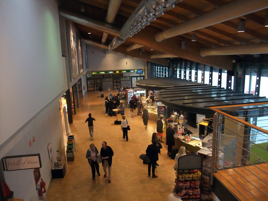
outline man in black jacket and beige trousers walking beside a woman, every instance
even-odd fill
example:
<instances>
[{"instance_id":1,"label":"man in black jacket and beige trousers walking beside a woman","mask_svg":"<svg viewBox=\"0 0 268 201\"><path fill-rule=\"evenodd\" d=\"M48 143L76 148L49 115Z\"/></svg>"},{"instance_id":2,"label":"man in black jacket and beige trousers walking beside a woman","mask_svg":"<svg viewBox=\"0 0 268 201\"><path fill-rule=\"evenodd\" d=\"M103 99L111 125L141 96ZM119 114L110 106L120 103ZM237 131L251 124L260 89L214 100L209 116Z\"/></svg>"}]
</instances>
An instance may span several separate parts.
<instances>
[{"instance_id":1,"label":"man in black jacket and beige trousers walking beside a woman","mask_svg":"<svg viewBox=\"0 0 268 201\"><path fill-rule=\"evenodd\" d=\"M103 178L107 175L107 168L108 168L108 182L111 183L111 171L112 171L112 157L114 152L111 147L107 146L107 142L102 142L101 148L101 159L102 159L102 166L104 171Z\"/></svg>"}]
</instances>

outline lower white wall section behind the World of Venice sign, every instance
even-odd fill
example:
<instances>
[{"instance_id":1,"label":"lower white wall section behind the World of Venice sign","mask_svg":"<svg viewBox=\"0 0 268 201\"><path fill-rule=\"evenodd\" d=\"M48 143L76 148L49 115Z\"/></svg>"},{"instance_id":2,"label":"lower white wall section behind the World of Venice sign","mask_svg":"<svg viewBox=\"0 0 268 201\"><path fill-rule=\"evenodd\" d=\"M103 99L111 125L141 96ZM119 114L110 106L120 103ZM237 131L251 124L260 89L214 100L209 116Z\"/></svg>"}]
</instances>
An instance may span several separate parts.
<instances>
[{"instance_id":1,"label":"lower white wall section behind the World of Venice sign","mask_svg":"<svg viewBox=\"0 0 268 201\"><path fill-rule=\"evenodd\" d=\"M7 156L40 153L42 162L40 173L46 182L46 188L49 187L51 180L51 163L47 146L49 143L52 144L53 159L57 156L56 151L61 151L64 147L59 107L59 100L55 99L40 111L19 130L17 136L20 137L17 137L16 143L12 144L13 147L6 153ZM32 137L35 137L35 142L31 141L32 145L29 147ZM31 197L38 197L33 169L5 171L4 176L10 190L14 191L15 198L29 200Z\"/></svg>"}]
</instances>

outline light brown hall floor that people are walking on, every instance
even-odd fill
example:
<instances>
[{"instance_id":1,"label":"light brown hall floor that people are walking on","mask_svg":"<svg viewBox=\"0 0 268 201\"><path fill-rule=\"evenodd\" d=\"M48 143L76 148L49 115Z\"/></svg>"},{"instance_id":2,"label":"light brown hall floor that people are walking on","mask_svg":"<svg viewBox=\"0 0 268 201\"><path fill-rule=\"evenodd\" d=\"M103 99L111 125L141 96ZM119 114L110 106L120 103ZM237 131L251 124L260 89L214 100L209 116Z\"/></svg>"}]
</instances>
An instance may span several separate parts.
<instances>
[{"instance_id":1,"label":"light brown hall floor that people are walking on","mask_svg":"<svg viewBox=\"0 0 268 201\"><path fill-rule=\"evenodd\" d=\"M70 125L70 135L75 135L75 161L66 165L67 173L64 178L51 180L46 200L166 200L173 191L175 178L175 161L167 156L167 145L162 143L159 166L155 171L158 178L148 177L147 165L139 159L139 155L145 154L148 144L151 144L156 122L149 120L145 129L141 116L135 115L131 118L130 111L126 108L125 116L131 127L131 131L128 132L129 140L126 142L122 138L120 125L114 124L116 117L105 114L104 98L97 98L95 92L86 92L80 104ZM90 140L87 123L84 123L88 113L97 120L94 121L93 141ZM121 120L120 115L118 120ZM197 132L193 129L191 131ZM103 178L101 163L101 176L96 176L96 179L92 180L91 168L85 158L91 143L100 150L103 141L114 151L110 184L107 177Z\"/></svg>"}]
</instances>

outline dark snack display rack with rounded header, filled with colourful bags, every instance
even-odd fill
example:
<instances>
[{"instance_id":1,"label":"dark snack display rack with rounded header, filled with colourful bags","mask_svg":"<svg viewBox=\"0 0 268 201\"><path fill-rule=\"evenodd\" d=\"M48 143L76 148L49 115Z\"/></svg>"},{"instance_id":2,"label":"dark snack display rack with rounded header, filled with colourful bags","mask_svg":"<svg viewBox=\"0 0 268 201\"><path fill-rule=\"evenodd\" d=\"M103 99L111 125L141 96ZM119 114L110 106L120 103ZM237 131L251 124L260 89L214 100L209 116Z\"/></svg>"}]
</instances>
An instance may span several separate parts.
<instances>
[{"instance_id":1,"label":"dark snack display rack with rounded header, filled with colourful bags","mask_svg":"<svg viewBox=\"0 0 268 201\"><path fill-rule=\"evenodd\" d=\"M178 158L178 167L175 179L175 188L183 186L185 194L182 200L199 201L202 185L203 158L199 155L184 155Z\"/></svg>"}]
</instances>

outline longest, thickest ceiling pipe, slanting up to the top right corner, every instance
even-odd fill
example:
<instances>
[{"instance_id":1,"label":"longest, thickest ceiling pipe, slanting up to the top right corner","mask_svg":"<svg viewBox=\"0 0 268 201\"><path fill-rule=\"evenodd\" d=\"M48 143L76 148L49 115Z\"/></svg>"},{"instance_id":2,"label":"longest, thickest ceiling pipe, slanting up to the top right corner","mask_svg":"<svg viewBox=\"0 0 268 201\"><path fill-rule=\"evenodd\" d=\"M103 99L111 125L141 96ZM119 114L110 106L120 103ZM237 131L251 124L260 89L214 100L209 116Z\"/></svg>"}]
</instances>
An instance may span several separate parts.
<instances>
[{"instance_id":1,"label":"longest, thickest ceiling pipe, slanting up to the top right corner","mask_svg":"<svg viewBox=\"0 0 268 201\"><path fill-rule=\"evenodd\" d=\"M161 42L167 38L172 38L174 36L208 27L213 24L218 24L265 8L268 8L267 0L232 1L224 6L221 6L220 8L211 10L210 12L205 13L199 17L177 25L176 27L172 27L166 31L157 33L155 35L155 40Z\"/></svg>"}]
</instances>

